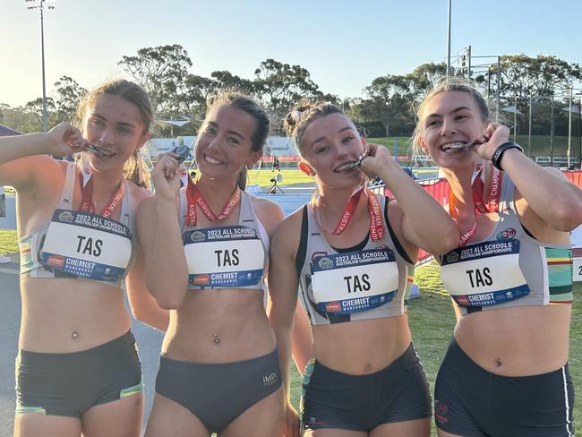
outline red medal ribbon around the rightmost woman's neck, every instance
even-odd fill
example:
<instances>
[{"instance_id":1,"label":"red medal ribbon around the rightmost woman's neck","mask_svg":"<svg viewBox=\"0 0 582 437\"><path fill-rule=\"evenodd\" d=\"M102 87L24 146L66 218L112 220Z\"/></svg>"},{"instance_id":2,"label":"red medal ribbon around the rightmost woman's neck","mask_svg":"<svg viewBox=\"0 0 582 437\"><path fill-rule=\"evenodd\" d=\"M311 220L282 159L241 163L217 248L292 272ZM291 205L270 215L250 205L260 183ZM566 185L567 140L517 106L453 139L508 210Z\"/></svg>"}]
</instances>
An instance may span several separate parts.
<instances>
[{"instance_id":1,"label":"red medal ribbon around the rightmost woman's neck","mask_svg":"<svg viewBox=\"0 0 582 437\"><path fill-rule=\"evenodd\" d=\"M475 206L475 223L468 231L466 231L464 234L461 234L461 242L458 244L459 247L466 245L469 240L475 236L475 232L477 231L477 218L479 217L479 214L487 214L490 212L497 212L499 210L501 179L503 177L501 170L492 167L492 174L489 180L489 200L487 201L486 205L483 199L484 183L483 179L481 178L482 172L483 168L479 168L477 170L475 179L471 184L471 194L473 197L473 205ZM449 193L449 214L451 218L457 221L458 209L455 203L457 203L457 198L451 190Z\"/></svg>"}]
</instances>

